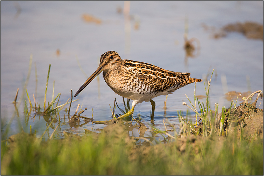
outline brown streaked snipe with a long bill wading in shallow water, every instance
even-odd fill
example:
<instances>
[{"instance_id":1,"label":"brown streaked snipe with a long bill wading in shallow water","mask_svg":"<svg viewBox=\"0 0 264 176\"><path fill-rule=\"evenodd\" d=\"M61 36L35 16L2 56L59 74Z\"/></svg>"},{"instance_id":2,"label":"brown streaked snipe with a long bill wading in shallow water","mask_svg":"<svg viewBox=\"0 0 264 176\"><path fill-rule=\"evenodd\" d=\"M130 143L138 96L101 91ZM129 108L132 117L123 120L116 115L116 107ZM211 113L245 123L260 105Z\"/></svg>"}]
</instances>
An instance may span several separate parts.
<instances>
[{"instance_id":1,"label":"brown streaked snipe with a long bill wading in shallow water","mask_svg":"<svg viewBox=\"0 0 264 176\"><path fill-rule=\"evenodd\" d=\"M154 97L172 94L187 84L200 82L201 79L190 78L191 73L181 73L139 61L123 60L115 51L101 55L98 69L85 81L74 95L75 97L101 72L106 84L118 95L133 100L132 108L119 119L134 112L136 104L151 102L151 119L154 120Z\"/></svg>"}]
</instances>

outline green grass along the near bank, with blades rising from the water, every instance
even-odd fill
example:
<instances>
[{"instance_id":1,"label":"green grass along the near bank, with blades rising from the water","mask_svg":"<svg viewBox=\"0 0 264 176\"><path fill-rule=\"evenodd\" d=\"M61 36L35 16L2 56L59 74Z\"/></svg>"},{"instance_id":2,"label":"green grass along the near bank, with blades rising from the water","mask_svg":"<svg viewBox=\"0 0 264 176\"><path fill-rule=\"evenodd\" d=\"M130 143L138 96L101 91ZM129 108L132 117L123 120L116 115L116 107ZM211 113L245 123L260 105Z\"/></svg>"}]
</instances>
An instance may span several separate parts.
<instances>
[{"instance_id":1,"label":"green grass along the near bank, with blades rising from the water","mask_svg":"<svg viewBox=\"0 0 264 176\"><path fill-rule=\"evenodd\" d=\"M59 106L60 93L55 98L52 96L47 108L44 100L43 115L50 115L51 120L41 138L36 138L36 132L32 134L30 129L30 134L22 131L1 141L1 175L263 175L263 138L239 140L235 133L224 133L223 120L226 113L230 115L233 102L229 110L222 108L220 127L216 125L218 105L215 104L213 113L208 101L211 78L207 88L205 85L205 105L196 99L195 87L194 105L189 100L196 115L194 124L184 119L181 112L178 112L181 129L178 134L175 131L174 136L168 134L164 121L165 131L148 124L164 137L165 144L156 141L157 144L153 145L149 140L145 145L137 146L138 139L129 136L123 123L106 126L99 134L65 135L64 139L52 139L57 125L49 139L42 140L60 110L74 102L68 102L68 99ZM28 101L32 108L29 96ZM126 113L130 109L129 100L125 103L123 99L123 103L125 110L115 100L119 110ZM39 109L39 106L33 107L35 111ZM115 109L114 106L113 117ZM25 118L28 119L30 113L25 101ZM198 125L202 125L202 132L197 131Z\"/></svg>"}]
</instances>

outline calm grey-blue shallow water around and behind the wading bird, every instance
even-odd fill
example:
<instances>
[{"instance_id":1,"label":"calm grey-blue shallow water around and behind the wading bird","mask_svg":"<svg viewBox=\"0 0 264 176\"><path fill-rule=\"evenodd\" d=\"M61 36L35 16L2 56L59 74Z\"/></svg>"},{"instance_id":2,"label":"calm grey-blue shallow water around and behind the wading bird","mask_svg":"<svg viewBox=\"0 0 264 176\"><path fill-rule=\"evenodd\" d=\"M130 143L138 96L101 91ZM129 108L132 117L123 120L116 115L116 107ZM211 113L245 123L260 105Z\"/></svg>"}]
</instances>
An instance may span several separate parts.
<instances>
[{"instance_id":1,"label":"calm grey-blue shallow water around and behind the wading bird","mask_svg":"<svg viewBox=\"0 0 264 176\"><path fill-rule=\"evenodd\" d=\"M17 88L18 99L22 95L30 54L33 54L33 64L27 91L31 101L34 93L41 107L49 64L47 101L52 99L55 81L54 94L61 93L60 104L63 104L70 98L70 90L75 94L87 79L78 62L89 77L97 69L101 54L109 50L118 52L122 59L191 72L191 77L203 80L214 69L209 94L212 106L218 102L219 107L229 107L231 102L224 98L228 91L263 90L263 40L248 39L239 33L214 39L212 31L204 28L207 25L217 30L229 23L246 21L263 24L263 1L131 1L131 20L128 21L123 12L118 12L123 8L123 1L1 1L1 130L6 128L14 112L12 101ZM85 21L84 14L92 15L101 23ZM200 44L199 54L196 54L196 48L194 57L186 57L183 47L186 22L188 39L197 38ZM56 53L57 50L60 52ZM194 84L187 85L167 97L165 117L165 96L154 98L156 127L164 130L163 119L168 119L166 123L175 124L176 131L180 130L175 116L178 110L186 112L187 107L182 106L182 102L190 105L185 94L193 101L193 88ZM196 95L205 95L204 82L197 83ZM99 82L94 79L74 98L79 100L72 104L70 114L74 114L79 103L82 109L88 108L82 115L92 117L93 113L95 120L109 120L109 104L113 107L114 98L122 104L122 97L106 85L100 74ZM32 131L37 130L41 135L47 127L46 122L43 116L36 115L34 119L31 115L26 125L25 100L26 95L18 107L23 129L29 131L29 125L32 125ZM260 100L257 106L259 103ZM68 105L66 107L68 109ZM263 108L263 100L260 108ZM143 102L136 105L133 115L140 114L145 124L150 123L150 109L150 102ZM82 134L84 129L97 131L104 127L92 123L70 127L68 118L63 118L64 114L65 111L60 112L65 123L60 123L55 137L63 136L63 131ZM49 135L55 126L48 131ZM9 135L15 134L17 127L15 118Z\"/></svg>"}]
</instances>

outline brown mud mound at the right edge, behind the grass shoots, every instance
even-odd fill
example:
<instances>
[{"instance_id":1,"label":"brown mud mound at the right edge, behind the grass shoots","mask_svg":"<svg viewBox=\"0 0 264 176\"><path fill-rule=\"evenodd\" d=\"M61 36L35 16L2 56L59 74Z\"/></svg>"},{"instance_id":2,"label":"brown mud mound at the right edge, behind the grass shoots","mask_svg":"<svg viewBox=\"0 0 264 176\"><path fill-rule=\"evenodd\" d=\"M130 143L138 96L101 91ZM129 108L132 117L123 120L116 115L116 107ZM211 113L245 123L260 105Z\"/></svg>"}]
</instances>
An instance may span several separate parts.
<instances>
[{"instance_id":1,"label":"brown mud mound at the right edge, behind the grass shoots","mask_svg":"<svg viewBox=\"0 0 264 176\"><path fill-rule=\"evenodd\" d=\"M223 112L219 113L215 119L215 129L219 129L224 136L235 134L248 140L263 139L263 109L256 107L259 96L262 97L261 92L253 103L248 103L249 98L255 93L249 95L239 106L225 108L224 115ZM202 129L203 122L198 124L195 131L202 135Z\"/></svg>"}]
</instances>

